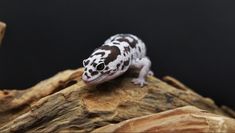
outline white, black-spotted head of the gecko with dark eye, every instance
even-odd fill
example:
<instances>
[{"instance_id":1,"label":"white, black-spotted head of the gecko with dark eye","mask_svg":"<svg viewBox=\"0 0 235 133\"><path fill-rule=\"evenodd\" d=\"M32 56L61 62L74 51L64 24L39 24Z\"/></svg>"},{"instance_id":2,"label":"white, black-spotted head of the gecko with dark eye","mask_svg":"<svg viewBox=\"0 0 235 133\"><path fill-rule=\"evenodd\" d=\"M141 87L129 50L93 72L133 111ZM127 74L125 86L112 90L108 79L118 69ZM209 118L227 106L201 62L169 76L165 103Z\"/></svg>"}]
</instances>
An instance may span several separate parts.
<instances>
[{"instance_id":1,"label":"white, black-spotted head of the gecko with dark eye","mask_svg":"<svg viewBox=\"0 0 235 133\"><path fill-rule=\"evenodd\" d=\"M110 79L110 67L103 58L88 58L83 60L84 72L82 80L88 85L100 84Z\"/></svg>"}]
</instances>

